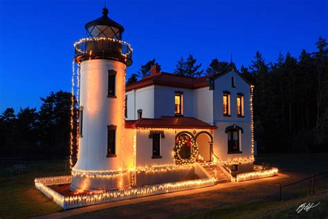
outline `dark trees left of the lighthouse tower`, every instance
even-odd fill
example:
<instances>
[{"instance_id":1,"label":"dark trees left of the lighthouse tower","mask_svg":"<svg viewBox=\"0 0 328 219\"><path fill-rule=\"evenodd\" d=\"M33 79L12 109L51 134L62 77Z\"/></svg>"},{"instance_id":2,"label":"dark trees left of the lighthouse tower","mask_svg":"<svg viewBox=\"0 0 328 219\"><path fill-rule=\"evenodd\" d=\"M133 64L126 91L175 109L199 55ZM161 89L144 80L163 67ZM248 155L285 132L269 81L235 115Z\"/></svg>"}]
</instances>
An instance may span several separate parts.
<instances>
[{"instance_id":1,"label":"dark trees left of the lighthouse tower","mask_svg":"<svg viewBox=\"0 0 328 219\"><path fill-rule=\"evenodd\" d=\"M66 91L51 92L37 109L26 107L17 114L7 108L0 116L0 157L53 159L69 156L71 97ZM76 101L75 101L76 105ZM73 115L78 109L73 107ZM73 148L76 148L77 120L73 120ZM75 151L75 150L73 150Z\"/></svg>"}]
</instances>

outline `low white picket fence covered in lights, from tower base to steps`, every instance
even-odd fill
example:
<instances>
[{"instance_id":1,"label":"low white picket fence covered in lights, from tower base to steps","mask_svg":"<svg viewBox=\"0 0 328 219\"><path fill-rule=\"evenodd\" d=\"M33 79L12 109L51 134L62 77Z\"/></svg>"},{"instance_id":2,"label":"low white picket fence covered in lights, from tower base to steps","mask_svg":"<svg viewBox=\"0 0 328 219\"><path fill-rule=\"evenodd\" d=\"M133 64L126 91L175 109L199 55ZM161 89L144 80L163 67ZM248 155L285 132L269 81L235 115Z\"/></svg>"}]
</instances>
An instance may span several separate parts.
<instances>
[{"instance_id":1,"label":"low white picket fence covered in lights, from tower base to steps","mask_svg":"<svg viewBox=\"0 0 328 219\"><path fill-rule=\"evenodd\" d=\"M159 195L163 193L172 193L175 191L184 191L188 189L197 189L206 186L214 186L215 179L194 179L181 182L170 182L165 184L154 184L140 186L131 189L120 189L115 191L104 191L102 193L90 193L72 195L64 197L60 193L53 191L49 185L69 184L72 176L46 177L35 179L35 187L42 191L48 198L59 204L64 209L73 209L76 207L84 207L92 204L101 204L105 202L116 202L120 200L128 200L132 198L141 198L149 195Z\"/></svg>"}]
</instances>

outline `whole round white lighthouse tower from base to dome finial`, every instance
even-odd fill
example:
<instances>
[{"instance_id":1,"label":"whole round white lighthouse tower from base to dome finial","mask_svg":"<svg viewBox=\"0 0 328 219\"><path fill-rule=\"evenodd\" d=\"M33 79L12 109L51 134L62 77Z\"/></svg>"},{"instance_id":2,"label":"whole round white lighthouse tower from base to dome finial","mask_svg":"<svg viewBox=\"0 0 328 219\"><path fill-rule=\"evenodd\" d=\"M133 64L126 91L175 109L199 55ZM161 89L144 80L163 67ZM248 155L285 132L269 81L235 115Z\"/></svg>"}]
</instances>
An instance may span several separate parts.
<instances>
[{"instance_id":1,"label":"whole round white lighthouse tower from base to dome finial","mask_svg":"<svg viewBox=\"0 0 328 219\"><path fill-rule=\"evenodd\" d=\"M108 17L85 25L87 38L75 43L80 64L80 140L71 189L107 190L130 185L124 157L125 69L131 46L124 28Z\"/></svg>"}]
</instances>

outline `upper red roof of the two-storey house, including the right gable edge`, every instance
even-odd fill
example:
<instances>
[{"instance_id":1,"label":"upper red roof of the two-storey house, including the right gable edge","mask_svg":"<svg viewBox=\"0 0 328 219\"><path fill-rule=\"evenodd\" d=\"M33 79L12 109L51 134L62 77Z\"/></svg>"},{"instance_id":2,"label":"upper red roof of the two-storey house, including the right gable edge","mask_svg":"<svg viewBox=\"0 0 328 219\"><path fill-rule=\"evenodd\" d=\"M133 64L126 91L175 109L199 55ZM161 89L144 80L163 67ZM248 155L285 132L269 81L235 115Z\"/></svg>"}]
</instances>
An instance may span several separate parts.
<instances>
[{"instance_id":1,"label":"upper red roof of the two-storey house, including the right gable edge","mask_svg":"<svg viewBox=\"0 0 328 219\"><path fill-rule=\"evenodd\" d=\"M179 76L173 73L159 72L152 76L147 76L142 80L127 85L126 91L131 91L133 89L140 89L152 85L179 87L185 89L199 89L202 87L208 87L209 80L215 80L217 78L220 78L221 76L224 76L231 71L235 71L235 73L237 73L248 85L251 85L250 82L248 82L248 80L246 80L246 78L244 78L242 73L239 73L237 69L229 68L221 73L214 73L212 75L203 76L200 78L192 78L188 76Z\"/></svg>"}]
</instances>

